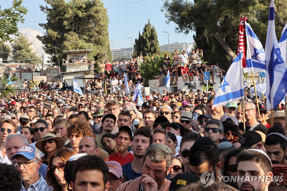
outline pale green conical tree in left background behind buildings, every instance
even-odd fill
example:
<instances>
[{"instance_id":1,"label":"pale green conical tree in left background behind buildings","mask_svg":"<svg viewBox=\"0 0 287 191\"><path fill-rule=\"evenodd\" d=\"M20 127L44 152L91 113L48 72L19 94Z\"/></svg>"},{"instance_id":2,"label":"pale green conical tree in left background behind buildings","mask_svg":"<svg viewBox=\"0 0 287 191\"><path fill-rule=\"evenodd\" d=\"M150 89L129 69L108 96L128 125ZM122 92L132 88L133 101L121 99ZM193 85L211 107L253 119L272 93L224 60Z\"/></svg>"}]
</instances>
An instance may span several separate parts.
<instances>
[{"instance_id":1,"label":"pale green conical tree in left background behind buildings","mask_svg":"<svg viewBox=\"0 0 287 191\"><path fill-rule=\"evenodd\" d=\"M20 33L19 36L16 36L11 44L13 61L18 63L38 64L38 56L36 56L34 52L31 52L32 48L30 48L30 45L32 44L32 42L29 42L26 34Z\"/></svg>"}]
</instances>

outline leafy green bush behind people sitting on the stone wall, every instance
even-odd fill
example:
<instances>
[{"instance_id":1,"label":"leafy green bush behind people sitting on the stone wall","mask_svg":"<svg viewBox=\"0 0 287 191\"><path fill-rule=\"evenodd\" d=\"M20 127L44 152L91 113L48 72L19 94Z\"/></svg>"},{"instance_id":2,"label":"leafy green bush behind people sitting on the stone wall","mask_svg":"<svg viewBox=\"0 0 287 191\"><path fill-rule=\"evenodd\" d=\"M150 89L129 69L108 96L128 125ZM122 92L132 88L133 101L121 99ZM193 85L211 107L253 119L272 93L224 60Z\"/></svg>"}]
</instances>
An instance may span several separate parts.
<instances>
[{"instance_id":1,"label":"leafy green bush behind people sitting on the stone wall","mask_svg":"<svg viewBox=\"0 0 287 191\"><path fill-rule=\"evenodd\" d=\"M141 66L139 67L139 71L141 72L141 76L145 78L145 83L144 86L148 86L148 80L153 80L154 76L158 76L158 68L161 67L163 69L163 65L166 65L164 63L164 58L165 54L168 52L160 52L160 55L157 56L154 54L154 59L152 59L151 56L146 56L147 62L141 63ZM174 53L170 52L169 53L170 60L172 60L172 57L174 56ZM173 65L173 62L170 62L170 65Z\"/></svg>"}]
</instances>

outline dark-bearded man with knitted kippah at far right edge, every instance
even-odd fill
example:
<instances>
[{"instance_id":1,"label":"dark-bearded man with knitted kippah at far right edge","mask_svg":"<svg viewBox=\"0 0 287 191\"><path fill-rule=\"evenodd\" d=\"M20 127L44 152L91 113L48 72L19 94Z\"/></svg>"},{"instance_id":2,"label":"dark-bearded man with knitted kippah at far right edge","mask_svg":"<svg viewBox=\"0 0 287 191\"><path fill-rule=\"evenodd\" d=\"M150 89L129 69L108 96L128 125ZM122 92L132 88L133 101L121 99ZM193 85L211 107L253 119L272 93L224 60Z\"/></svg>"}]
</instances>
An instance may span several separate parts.
<instances>
[{"instance_id":1,"label":"dark-bearded man with knitted kippah at far right edge","mask_svg":"<svg viewBox=\"0 0 287 191\"><path fill-rule=\"evenodd\" d=\"M266 153L272 164L287 166L287 138L281 133L270 133L265 140Z\"/></svg>"}]
</instances>

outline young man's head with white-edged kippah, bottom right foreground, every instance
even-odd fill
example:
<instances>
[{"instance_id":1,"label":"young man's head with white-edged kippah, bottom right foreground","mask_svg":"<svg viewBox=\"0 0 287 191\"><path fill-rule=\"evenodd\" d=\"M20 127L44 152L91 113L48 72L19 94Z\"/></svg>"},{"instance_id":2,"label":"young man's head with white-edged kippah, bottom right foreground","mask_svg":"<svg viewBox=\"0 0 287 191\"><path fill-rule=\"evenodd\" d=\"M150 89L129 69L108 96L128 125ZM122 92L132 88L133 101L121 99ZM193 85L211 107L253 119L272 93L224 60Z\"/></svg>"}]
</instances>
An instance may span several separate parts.
<instances>
[{"instance_id":1,"label":"young man's head with white-edged kippah, bottom right foreground","mask_svg":"<svg viewBox=\"0 0 287 191\"><path fill-rule=\"evenodd\" d=\"M273 178L272 163L264 151L258 149L241 151L236 157L236 167L237 176L242 180L238 181L241 191L268 191L268 185ZM257 177L257 180L251 181L254 176ZM259 181L259 177L263 181ZM245 179L250 181L244 181Z\"/></svg>"}]
</instances>

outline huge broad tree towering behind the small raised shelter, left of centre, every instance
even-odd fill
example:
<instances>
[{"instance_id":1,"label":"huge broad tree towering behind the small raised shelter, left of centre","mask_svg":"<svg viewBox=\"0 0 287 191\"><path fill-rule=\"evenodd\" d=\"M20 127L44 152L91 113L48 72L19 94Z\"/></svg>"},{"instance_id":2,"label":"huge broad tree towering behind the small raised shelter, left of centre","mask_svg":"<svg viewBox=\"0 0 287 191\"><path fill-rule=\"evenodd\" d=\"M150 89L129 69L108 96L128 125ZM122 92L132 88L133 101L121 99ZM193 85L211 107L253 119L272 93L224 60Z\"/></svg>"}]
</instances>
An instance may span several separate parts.
<instances>
[{"instance_id":1,"label":"huge broad tree towering behind the small raised shelter, left of centre","mask_svg":"<svg viewBox=\"0 0 287 191\"><path fill-rule=\"evenodd\" d=\"M93 49L88 58L112 60L108 40L108 15L100 0L45 0L49 6L40 5L47 15L47 23L39 25L46 30L37 38L44 44L44 49L54 46L62 50ZM46 50L53 54L55 50ZM59 60L66 59L62 53ZM53 58L58 63L58 58ZM61 63L59 63L61 65Z\"/></svg>"}]
</instances>

